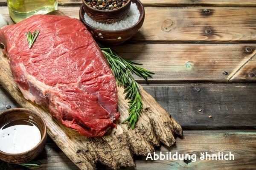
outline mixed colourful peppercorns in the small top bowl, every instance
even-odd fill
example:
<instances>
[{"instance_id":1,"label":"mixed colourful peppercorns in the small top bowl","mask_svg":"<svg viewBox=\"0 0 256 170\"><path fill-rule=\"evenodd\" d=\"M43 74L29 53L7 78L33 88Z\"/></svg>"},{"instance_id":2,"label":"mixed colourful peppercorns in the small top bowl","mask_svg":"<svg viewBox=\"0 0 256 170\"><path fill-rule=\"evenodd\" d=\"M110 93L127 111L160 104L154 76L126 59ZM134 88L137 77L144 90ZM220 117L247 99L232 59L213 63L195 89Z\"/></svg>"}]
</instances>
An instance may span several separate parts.
<instances>
[{"instance_id":1,"label":"mixed colourful peppercorns in the small top bowl","mask_svg":"<svg viewBox=\"0 0 256 170\"><path fill-rule=\"evenodd\" d=\"M128 0L85 0L92 8L99 10L115 10L125 6Z\"/></svg>"}]
</instances>

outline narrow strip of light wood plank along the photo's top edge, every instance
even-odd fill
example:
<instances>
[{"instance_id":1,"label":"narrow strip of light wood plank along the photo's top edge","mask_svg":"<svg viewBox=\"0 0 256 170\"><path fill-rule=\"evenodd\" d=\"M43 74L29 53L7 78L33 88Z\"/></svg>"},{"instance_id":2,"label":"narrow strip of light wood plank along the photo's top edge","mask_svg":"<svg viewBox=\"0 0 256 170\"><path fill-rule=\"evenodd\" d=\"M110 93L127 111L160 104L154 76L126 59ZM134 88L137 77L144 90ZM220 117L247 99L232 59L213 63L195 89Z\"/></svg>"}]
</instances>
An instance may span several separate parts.
<instances>
[{"instance_id":1,"label":"narrow strip of light wood plank along the photo's top edge","mask_svg":"<svg viewBox=\"0 0 256 170\"><path fill-rule=\"evenodd\" d=\"M253 7L255 0L140 0L144 6L225 6ZM58 6L81 6L82 0L58 0ZM6 0L0 0L0 6L6 6Z\"/></svg>"}]
</instances>

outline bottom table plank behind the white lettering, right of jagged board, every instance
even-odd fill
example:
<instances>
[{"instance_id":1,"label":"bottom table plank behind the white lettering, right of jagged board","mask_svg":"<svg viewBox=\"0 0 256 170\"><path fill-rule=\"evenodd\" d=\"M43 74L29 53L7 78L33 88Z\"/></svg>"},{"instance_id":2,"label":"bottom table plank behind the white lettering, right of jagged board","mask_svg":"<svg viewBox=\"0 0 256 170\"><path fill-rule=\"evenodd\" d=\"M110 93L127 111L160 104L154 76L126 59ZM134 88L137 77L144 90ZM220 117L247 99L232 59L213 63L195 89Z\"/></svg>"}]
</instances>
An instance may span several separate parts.
<instances>
[{"instance_id":1,"label":"bottom table plank behind the white lettering, right of jagged board","mask_svg":"<svg viewBox=\"0 0 256 170\"><path fill-rule=\"evenodd\" d=\"M161 147L159 152L178 154L233 153L235 160L197 160L186 164L183 160L146 161L137 158L136 170L253 170L256 167L256 132L255 131L184 131L183 139L177 139L175 147ZM154 163L154 166L151 166ZM100 168L99 168L100 169ZM105 169L104 167L102 170ZM130 169L130 168L128 168ZM131 168L132 170L132 168Z\"/></svg>"}]
</instances>

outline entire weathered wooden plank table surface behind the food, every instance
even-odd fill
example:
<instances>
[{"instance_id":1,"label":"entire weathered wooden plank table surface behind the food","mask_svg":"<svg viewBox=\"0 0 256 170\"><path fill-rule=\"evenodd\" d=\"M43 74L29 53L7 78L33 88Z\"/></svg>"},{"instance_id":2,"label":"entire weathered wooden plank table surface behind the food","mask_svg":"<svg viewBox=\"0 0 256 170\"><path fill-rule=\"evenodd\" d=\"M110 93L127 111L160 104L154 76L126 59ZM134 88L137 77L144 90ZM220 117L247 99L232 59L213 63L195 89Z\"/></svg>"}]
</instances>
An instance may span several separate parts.
<instances>
[{"instance_id":1,"label":"entire weathered wooden plank table surface behind the food","mask_svg":"<svg viewBox=\"0 0 256 170\"><path fill-rule=\"evenodd\" d=\"M230 151L235 160L185 163L135 156L137 167L124 169L255 170L256 0L141 1L142 29L113 48L156 73L147 84L136 79L183 127L183 137L173 147L156 151ZM58 9L79 18L80 5L81 0L59 0ZM12 23L6 0L0 0L0 13ZM0 87L0 111L10 107L19 105ZM41 170L78 170L49 138L38 159ZM24 168L0 161L0 170Z\"/></svg>"}]
</instances>

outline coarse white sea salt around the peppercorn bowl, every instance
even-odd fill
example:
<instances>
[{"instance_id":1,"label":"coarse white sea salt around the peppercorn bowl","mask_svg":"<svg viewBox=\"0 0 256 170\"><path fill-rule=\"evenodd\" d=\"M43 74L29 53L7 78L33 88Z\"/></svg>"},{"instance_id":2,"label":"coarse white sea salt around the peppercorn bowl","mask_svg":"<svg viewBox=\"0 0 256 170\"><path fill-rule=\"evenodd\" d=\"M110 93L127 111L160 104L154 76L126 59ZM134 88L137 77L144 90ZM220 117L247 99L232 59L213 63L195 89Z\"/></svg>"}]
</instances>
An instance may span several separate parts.
<instances>
[{"instance_id":1,"label":"coarse white sea salt around the peppercorn bowl","mask_svg":"<svg viewBox=\"0 0 256 170\"><path fill-rule=\"evenodd\" d=\"M139 21L139 18L140 18L140 11L138 10L136 3L131 3L131 8L129 9L127 16L116 23L110 23L110 24L99 23L93 20L91 17L89 17L87 13L84 13L84 20L90 26L93 26L95 28L99 28L102 30L108 30L108 31L116 31L116 30L129 28L134 24L136 24Z\"/></svg>"}]
</instances>

